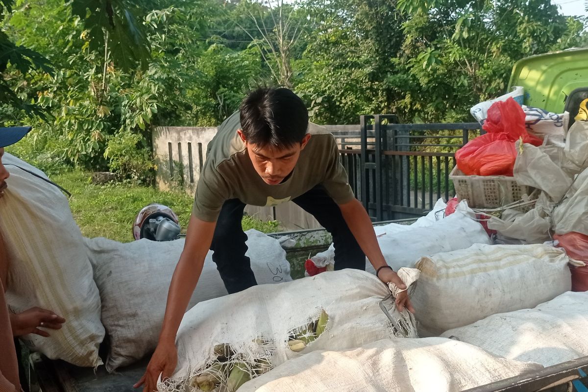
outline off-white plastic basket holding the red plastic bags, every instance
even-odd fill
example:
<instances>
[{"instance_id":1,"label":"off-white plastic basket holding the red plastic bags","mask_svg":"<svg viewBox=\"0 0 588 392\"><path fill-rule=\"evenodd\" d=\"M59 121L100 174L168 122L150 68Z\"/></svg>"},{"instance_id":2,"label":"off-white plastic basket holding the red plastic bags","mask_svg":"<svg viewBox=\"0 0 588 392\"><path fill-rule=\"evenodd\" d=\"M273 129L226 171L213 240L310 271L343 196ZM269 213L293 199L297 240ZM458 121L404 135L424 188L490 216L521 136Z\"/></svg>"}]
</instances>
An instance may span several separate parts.
<instances>
[{"instance_id":1,"label":"off-white plastic basket holding the red plastic bags","mask_svg":"<svg viewBox=\"0 0 588 392\"><path fill-rule=\"evenodd\" d=\"M467 200L473 208L499 208L530 195L534 188L519 185L514 177L507 176L466 176L457 169L451 171L449 178L455 186L457 199Z\"/></svg>"}]
</instances>

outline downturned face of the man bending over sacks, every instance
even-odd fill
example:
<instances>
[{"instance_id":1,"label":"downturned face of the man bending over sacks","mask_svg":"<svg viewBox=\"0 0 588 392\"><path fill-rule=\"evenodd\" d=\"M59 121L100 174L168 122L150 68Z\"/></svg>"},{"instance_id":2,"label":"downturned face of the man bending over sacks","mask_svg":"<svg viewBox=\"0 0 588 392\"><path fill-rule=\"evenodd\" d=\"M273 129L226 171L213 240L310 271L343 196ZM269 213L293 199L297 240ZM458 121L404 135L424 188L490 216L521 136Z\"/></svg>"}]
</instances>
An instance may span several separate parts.
<instances>
[{"instance_id":1,"label":"downturned face of the man bending over sacks","mask_svg":"<svg viewBox=\"0 0 588 392\"><path fill-rule=\"evenodd\" d=\"M307 134L300 144L288 149L276 149L272 147L258 148L257 145L247 142L245 135L243 135L240 129L237 133L239 133L241 140L245 142L249 159L251 159L255 171L269 185L278 185L292 173L300 157L300 151L305 148L306 143L310 139L310 135Z\"/></svg>"}]
</instances>

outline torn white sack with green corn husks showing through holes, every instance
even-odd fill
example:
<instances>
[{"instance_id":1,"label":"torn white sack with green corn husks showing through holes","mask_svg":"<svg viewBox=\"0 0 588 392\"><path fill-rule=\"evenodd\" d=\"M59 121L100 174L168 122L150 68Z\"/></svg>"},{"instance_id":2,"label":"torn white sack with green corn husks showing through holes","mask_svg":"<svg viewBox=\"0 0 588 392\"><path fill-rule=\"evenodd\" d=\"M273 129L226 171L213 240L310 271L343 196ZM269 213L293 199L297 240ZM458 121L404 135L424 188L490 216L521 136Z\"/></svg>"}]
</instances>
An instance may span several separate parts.
<instances>
[{"instance_id":1,"label":"torn white sack with green corn husks showing through holes","mask_svg":"<svg viewBox=\"0 0 588 392\"><path fill-rule=\"evenodd\" d=\"M417 275L407 275L399 271L410 285ZM395 337L389 312L382 310L393 309L392 302L390 289L377 277L346 269L198 303L178 331L176 372L159 383L159 391L234 392L311 351Z\"/></svg>"}]
</instances>

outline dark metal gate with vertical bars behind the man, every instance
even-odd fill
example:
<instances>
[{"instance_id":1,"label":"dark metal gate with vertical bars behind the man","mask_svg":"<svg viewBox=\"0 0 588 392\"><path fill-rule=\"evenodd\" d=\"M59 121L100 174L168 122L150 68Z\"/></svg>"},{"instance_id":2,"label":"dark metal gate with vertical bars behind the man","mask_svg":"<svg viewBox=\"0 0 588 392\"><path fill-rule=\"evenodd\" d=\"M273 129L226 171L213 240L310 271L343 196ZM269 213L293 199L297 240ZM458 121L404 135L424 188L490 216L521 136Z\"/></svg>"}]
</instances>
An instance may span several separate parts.
<instances>
[{"instance_id":1,"label":"dark metal gate with vertical bars behind the man","mask_svg":"<svg viewBox=\"0 0 588 392\"><path fill-rule=\"evenodd\" d=\"M395 115L365 115L359 135L331 132L349 184L379 222L425 215L437 199L453 196L455 152L482 131L479 123L399 124Z\"/></svg>"}]
</instances>

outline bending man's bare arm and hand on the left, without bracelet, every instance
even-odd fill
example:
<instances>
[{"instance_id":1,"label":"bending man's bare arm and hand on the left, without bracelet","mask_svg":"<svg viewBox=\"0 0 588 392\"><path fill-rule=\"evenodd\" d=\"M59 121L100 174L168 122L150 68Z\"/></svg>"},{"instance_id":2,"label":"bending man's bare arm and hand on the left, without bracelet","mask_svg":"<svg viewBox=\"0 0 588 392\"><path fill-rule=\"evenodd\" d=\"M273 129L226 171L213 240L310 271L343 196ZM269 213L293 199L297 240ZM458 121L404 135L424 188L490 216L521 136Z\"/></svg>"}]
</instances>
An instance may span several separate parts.
<instances>
[{"instance_id":1,"label":"bending man's bare arm and hand on the left, without bracelet","mask_svg":"<svg viewBox=\"0 0 588 392\"><path fill-rule=\"evenodd\" d=\"M175 370L178 363L178 351L175 347L176 334L202 273L215 226L216 222L205 222L194 215L190 218L184 249L169 286L168 302L157 349L149 361L145 374L135 384L135 388L143 385L144 392L157 390L159 374L163 380L171 377Z\"/></svg>"}]
</instances>

